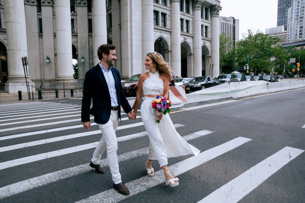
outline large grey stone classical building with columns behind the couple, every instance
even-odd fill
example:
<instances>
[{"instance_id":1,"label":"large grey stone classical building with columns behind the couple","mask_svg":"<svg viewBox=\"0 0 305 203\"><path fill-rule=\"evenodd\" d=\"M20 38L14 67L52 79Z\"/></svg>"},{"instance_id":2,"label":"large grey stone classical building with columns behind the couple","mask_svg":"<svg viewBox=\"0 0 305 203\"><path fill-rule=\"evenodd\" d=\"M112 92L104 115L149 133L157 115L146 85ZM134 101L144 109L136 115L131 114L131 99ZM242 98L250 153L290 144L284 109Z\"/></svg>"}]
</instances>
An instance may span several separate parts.
<instances>
[{"instance_id":1,"label":"large grey stone classical building with columns behind the couple","mask_svg":"<svg viewBox=\"0 0 305 203\"><path fill-rule=\"evenodd\" d=\"M122 79L145 72L145 55L162 53L175 76L219 75L219 0L0 0L0 76L5 92L30 84L75 83L116 46Z\"/></svg>"}]
</instances>

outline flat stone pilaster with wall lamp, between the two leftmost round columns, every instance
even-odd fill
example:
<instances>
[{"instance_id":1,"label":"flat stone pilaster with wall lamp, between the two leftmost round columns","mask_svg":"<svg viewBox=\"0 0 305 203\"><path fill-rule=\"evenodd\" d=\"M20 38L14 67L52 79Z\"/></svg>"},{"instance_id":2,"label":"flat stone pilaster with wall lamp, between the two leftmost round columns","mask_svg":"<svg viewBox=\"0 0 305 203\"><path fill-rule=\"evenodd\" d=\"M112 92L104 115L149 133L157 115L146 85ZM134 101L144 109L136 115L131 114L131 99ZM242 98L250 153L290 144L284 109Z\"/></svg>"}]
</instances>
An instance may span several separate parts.
<instances>
[{"instance_id":1,"label":"flat stone pilaster with wall lamp, between the two leftmost round columns","mask_svg":"<svg viewBox=\"0 0 305 203\"><path fill-rule=\"evenodd\" d=\"M42 18L42 36L43 36L42 66L44 68L43 84L49 85L49 84L54 84L56 78L52 0L41 1L41 18ZM45 62L47 56L50 58L50 63Z\"/></svg>"}]
</instances>

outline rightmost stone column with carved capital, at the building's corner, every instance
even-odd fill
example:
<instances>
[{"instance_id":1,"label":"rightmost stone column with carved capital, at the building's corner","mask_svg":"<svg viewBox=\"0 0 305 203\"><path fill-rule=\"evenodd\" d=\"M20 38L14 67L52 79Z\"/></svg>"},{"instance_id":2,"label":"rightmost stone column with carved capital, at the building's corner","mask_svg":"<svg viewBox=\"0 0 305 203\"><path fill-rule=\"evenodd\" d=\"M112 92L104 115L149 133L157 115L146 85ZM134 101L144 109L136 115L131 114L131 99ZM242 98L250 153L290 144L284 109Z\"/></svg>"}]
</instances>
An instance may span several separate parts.
<instances>
[{"instance_id":1,"label":"rightmost stone column with carved capital, at the building's corner","mask_svg":"<svg viewBox=\"0 0 305 203\"><path fill-rule=\"evenodd\" d=\"M210 6L211 11L211 63L213 64L213 77L219 75L219 11L221 6Z\"/></svg>"}]
</instances>

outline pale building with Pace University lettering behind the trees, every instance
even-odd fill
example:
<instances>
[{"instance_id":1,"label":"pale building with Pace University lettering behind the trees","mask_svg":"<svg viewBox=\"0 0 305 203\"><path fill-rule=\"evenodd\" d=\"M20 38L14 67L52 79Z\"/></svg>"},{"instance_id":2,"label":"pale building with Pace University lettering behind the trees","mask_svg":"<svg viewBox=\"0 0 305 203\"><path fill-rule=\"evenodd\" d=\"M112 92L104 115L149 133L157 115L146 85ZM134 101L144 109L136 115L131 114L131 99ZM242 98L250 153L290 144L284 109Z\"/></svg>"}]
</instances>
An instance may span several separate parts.
<instances>
[{"instance_id":1,"label":"pale building with Pace University lettering behind the trees","mask_svg":"<svg viewBox=\"0 0 305 203\"><path fill-rule=\"evenodd\" d=\"M239 19L232 16L219 16L219 32L231 37L232 43L227 44L226 47L226 50L230 51L231 47L235 46L235 42L239 40Z\"/></svg>"}]
</instances>

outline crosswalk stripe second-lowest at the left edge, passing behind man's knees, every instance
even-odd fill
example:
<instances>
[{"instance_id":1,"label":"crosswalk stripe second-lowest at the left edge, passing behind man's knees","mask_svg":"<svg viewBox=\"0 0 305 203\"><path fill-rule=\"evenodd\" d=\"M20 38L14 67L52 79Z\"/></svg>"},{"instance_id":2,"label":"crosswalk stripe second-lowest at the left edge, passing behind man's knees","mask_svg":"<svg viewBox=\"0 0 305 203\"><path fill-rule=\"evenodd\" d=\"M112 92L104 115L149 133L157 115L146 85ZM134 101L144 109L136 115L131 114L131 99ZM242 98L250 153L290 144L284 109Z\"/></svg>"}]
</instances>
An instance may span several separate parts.
<instances>
[{"instance_id":1,"label":"crosswalk stripe second-lowest at the left edge, passing behind man's knees","mask_svg":"<svg viewBox=\"0 0 305 203\"><path fill-rule=\"evenodd\" d=\"M175 124L175 125L177 125L177 124ZM178 125L180 125L180 124L178 124ZM122 141L125 141L125 140L130 140L130 139L142 137L142 136L145 136L145 135L147 135L147 134L145 134L143 132L136 133L136 134L133 134L133 135L126 135L126 136L118 137L117 142L122 142ZM34 162L34 161L48 159L48 158L51 158L51 157L61 156L61 155L65 155L65 154L70 154L70 153L74 153L74 152L83 151L83 150L86 150L86 149L95 148L98 143L99 142L92 142L92 143L85 144L85 145L78 145L78 146L69 147L69 148L66 148L66 149L59 149L59 150L52 151L52 152L46 152L46 153L36 154L36 155L33 155L33 156L23 157L23 158L20 158L20 159L14 159L14 160L10 160L10 161L1 162L0 163L0 170L5 169L5 168L9 168L9 167L13 167L13 166L19 166L19 165L25 164L25 163L31 163L31 162Z\"/></svg>"}]
</instances>

